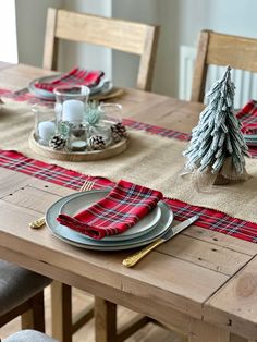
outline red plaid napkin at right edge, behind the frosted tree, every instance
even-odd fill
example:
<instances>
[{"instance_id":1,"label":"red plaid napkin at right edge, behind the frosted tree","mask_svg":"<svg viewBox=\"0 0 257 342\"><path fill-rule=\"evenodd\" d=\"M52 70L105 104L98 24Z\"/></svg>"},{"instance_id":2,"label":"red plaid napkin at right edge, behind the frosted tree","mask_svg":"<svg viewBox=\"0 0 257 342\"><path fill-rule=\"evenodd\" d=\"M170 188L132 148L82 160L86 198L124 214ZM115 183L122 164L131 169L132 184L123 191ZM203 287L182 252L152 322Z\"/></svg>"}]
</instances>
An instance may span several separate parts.
<instances>
[{"instance_id":1,"label":"red plaid napkin at right edge, behind the frosted tree","mask_svg":"<svg viewBox=\"0 0 257 342\"><path fill-rule=\"evenodd\" d=\"M236 114L242 123L243 134L257 134L257 101L250 100Z\"/></svg>"}]
</instances>

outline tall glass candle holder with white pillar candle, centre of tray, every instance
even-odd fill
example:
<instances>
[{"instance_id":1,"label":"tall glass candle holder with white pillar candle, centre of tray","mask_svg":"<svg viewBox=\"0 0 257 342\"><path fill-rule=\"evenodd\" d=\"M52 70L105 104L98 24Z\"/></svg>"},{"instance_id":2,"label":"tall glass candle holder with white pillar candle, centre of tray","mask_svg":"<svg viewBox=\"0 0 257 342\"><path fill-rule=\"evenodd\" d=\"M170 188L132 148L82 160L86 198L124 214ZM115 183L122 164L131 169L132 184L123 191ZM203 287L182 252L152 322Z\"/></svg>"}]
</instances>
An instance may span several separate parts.
<instances>
[{"instance_id":1,"label":"tall glass candle holder with white pillar candle, centre of tray","mask_svg":"<svg viewBox=\"0 0 257 342\"><path fill-rule=\"evenodd\" d=\"M58 132L66 138L69 149L82 148L87 139L85 117L90 89L83 85L70 85L57 87L53 93Z\"/></svg>"}]
</instances>

